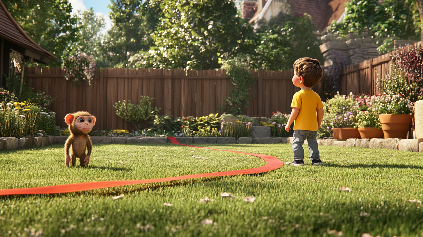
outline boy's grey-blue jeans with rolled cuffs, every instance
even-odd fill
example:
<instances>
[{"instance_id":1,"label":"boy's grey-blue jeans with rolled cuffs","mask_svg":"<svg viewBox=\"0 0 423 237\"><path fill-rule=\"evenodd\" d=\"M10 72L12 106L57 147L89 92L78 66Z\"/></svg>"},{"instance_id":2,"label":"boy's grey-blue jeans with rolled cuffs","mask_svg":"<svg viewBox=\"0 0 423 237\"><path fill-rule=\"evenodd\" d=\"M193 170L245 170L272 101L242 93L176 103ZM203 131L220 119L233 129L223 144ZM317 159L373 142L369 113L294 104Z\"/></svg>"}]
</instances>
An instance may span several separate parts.
<instances>
[{"instance_id":1,"label":"boy's grey-blue jeans with rolled cuffs","mask_svg":"<svg viewBox=\"0 0 423 237\"><path fill-rule=\"evenodd\" d=\"M317 131L308 130L294 130L294 137L292 138L292 152L294 152L294 160L304 160L304 149L302 144L307 139L308 152L310 160L320 159L319 145L316 141Z\"/></svg>"}]
</instances>

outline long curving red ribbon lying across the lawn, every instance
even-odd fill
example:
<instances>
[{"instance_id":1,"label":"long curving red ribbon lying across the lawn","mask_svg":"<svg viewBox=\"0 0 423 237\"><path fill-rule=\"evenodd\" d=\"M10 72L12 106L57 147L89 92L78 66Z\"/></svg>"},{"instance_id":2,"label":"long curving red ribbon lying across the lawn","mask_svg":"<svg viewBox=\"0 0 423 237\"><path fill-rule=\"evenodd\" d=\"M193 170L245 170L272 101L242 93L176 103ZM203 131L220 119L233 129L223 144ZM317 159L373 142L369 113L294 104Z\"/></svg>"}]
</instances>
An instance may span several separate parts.
<instances>
[{"instance_id":1,"label":"long curving red ribbon lying across the lawn","mask_svg":"<svg viewBox=\"0 0 423 237\"><path fill-rule=\"evenodd\" d=\"M191 146L191 145L180 144L174 137L168 137L168 138L173 144L177 144L181 146ZM235 152L235 151L219 150L219 149L212 149L212 148L199 147L199 146L191 146L191 147L210 149L214 151ZM260 157L261 159L266 161L267 164L264 166L261 166L258 168L252 168L252 169L244 169L244 170L236 170L236 171L222 171L222 172L206 173L206 174L190 174L190 175L175 176L175 177L160 178L160 179L98 181L98 182L85 182L85 183L66 184L66 185L53 185L53 186L45 186L45 187L2 189L0 190L0 196L18 195L18 194L71 193L71 192L79 192L79 191L93 190L93 189L99 189L99 188L118 187L123 185L147 184L147 183L155 183L155 182L166 182L166 181L175 181L175 180L181 180L181 179L231 176L231 175L239 175L239 174L258 174L258 173L275 170L277 168L280 168L283 165L283 162L274 156L245 153L245 152L235 152L235 153Z\"/></svg>"}]
</instances>

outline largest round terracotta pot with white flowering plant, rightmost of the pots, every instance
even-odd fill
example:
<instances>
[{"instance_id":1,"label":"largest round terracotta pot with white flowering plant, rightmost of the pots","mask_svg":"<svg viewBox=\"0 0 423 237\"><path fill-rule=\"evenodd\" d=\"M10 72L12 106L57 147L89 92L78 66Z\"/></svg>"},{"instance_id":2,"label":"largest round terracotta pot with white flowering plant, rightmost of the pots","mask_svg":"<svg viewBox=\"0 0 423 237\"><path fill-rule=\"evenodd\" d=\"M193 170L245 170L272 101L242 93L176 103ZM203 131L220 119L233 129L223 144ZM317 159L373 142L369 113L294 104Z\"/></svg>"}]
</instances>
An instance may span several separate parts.
<instances>
[{"instance_id":1,"label":"largest round terracotta pot with white flowering plant, rightmost of the pots","mask_svg":"<svg viewBox=\"0 0 423 237\"><path fill-rule=\"evenodd\" d=\"M379 113L384 138L407 138L412 120L412 103L403 94L371 96L370 106Z\"/></svg>"}]
</instances>

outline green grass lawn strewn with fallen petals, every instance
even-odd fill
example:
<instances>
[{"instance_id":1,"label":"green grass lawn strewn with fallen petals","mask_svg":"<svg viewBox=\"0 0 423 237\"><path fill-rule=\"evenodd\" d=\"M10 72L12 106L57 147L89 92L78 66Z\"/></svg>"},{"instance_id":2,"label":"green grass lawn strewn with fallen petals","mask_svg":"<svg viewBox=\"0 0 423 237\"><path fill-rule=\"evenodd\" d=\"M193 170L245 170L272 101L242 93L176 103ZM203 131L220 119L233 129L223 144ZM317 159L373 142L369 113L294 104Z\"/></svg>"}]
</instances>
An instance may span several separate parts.
<instances>
[{"instance_id":1,"label":"green grass lawn strewn with fallen petals","mask_svg":"<svg viewBox=\"0 0 423 237\"><path fill-rule=\"evenodd\" d=\"M199 146L269 154L284 163L292 161L291 144ZM302 167L283 165L258 175L55 195L2 196L0 236L36 236L34 232L41 229L43 237L320 237L330 236L333 230L342 231L343 236L423 236L423 205L419 202L423 201L423 154L358 147L319 149L324 166L311 166L306 160ZM51 145L1 151L0 189L152 179L264 164L258 157L168 143L94 145L88 168L66 168L63 146ZM335 189L340 187L352 191ZM222 197L220 192L232 193L236 198ZM124 196L112 198L120 194ZM256 199L246 202L243 199L247 196ZM214 201L200 202L205 197ZM204 219L212 220L212 224L202 224Z\"/></svg>"}]
</instances>

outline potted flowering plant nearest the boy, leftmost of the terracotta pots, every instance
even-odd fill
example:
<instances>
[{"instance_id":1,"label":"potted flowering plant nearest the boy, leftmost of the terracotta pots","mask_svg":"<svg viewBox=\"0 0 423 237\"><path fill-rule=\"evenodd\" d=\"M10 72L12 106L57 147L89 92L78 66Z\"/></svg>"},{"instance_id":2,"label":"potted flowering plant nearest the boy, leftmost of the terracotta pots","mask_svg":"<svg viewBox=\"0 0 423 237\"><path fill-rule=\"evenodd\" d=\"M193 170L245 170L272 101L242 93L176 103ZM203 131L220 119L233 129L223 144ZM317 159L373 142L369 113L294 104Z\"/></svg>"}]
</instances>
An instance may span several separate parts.
<instances>
[{"instance_id":1,"label":"potted flowering plant nearest the boy, leftmost of the terracotta pots","mask_svg":"<svg viewBox=\"0 0 423 237\"><path fill-rule=\"evenodd\" d=\"M358 105L352 93L346 96L340 95L338 92L334 98L328 99L324 103L324 111L325 121L322 125L328 123L331 125L333 138L360 138L358 129L354 128Z\"/></svg>"}]
</instances>

